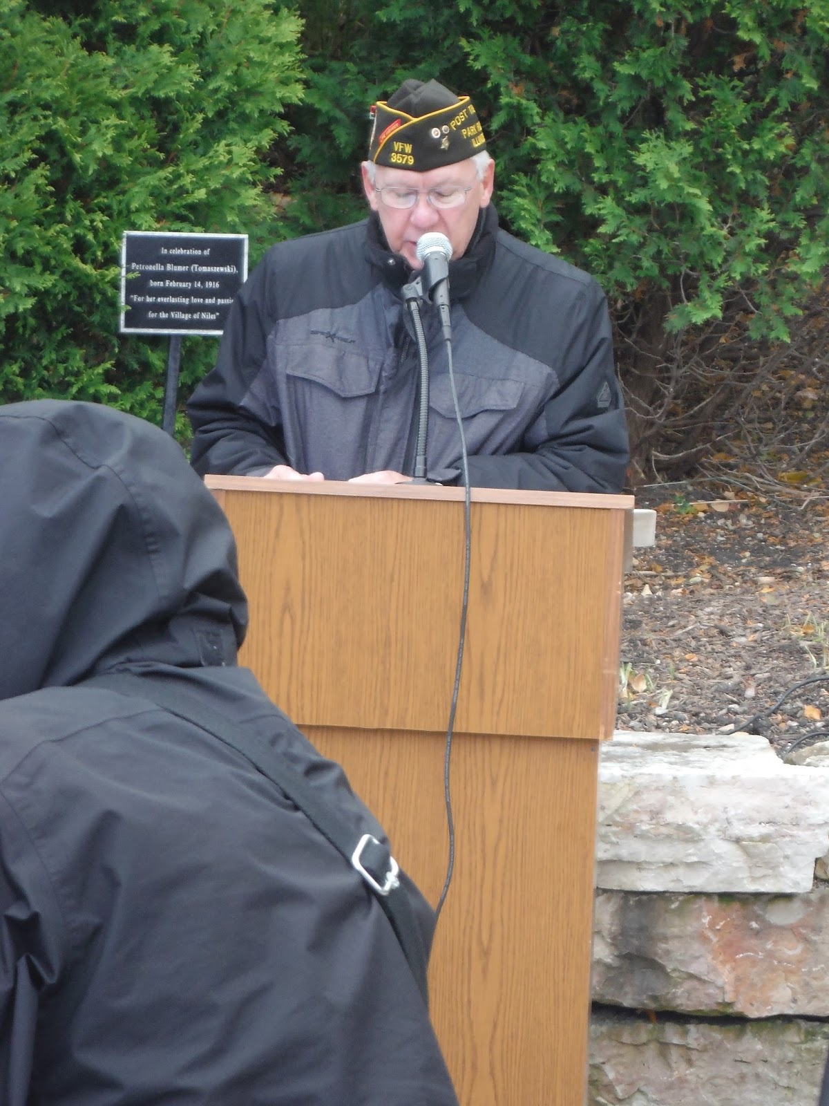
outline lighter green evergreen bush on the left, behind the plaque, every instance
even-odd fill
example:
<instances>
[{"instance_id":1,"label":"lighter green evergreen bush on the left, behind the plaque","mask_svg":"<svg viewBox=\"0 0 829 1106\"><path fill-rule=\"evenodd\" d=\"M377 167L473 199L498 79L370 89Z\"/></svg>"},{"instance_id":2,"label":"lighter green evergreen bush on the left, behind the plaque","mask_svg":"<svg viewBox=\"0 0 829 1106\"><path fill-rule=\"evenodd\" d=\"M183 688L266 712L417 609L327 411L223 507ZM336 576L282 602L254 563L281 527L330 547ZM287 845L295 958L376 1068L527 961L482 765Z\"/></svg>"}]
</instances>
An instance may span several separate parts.
<instances>
[{"instance_id":1,"label":"lighter green evergreen bush on the left, behind the plaque","mask_svg":"<svg viewBox=\"0 0 829 1106\"><path fill-rule=\"evenodd\" d=\"M264 0L0 0L0 396L160 421L167 340L117 333L124 230L266 233L300 21ZM185 340L182 389L212 340Z\"/></svg>"}]
</instances>

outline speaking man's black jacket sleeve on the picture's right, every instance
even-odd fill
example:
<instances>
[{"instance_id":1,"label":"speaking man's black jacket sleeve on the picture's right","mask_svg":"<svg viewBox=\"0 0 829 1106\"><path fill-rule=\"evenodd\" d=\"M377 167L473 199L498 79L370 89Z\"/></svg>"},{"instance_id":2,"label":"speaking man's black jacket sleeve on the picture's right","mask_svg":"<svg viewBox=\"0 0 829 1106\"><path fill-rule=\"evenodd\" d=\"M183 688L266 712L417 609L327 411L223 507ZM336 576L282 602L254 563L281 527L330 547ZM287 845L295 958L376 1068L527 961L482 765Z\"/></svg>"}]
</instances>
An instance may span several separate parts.
<instances>
[{"instance_id":1,"label":"speaking man's black jacket sleeve on the picture's right","mask_svg":"<svg viewBox=\"0 0 829 1106\"><path fill-rule=\"evenodd\" d=\"M524 449L470 457L473 487L620 492L629 449L607 301L591 282L562 355L562 379L524 436ZM543 325L543 324L541 324Z\"/></svg>"}]
</instances>

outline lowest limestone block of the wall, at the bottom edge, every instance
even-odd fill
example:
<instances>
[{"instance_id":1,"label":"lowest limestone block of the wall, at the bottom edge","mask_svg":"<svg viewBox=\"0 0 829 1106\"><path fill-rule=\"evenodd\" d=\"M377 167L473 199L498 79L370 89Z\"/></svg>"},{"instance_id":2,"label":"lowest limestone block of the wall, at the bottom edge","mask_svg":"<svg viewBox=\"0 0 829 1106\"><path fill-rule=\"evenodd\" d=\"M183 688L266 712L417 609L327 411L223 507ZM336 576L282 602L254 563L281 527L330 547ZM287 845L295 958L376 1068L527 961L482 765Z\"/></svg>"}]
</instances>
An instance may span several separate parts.
<instances>
[{"instance_id":1,"label":"lowest limestone block of the wall, at the bottom edge","mask_svg":"<svg viewBox=\"0 0 829 1106\"><path fill-rule=\"evenodd\" d=\"M663 1021L597 1011L588 1106L814 1106L829 1025Z\"/></svg>"}]
</instances>

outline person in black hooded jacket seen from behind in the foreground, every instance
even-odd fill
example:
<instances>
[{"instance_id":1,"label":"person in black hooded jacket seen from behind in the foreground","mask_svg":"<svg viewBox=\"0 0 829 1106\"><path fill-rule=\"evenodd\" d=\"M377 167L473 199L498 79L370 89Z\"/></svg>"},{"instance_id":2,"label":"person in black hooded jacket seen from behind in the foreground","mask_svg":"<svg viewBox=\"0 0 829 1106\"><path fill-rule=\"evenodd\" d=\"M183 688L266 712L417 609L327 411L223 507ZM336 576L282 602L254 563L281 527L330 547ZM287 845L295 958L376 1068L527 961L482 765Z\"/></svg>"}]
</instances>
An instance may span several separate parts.
<instances>
[{"instance_id":1,"label":"person in black hooded jacket seen from behind in the foreground","mask_svg":"<svg viewBox=\"0 0 829 1106\"><path fill-rule=\"evenodd\" d=\"M457 1104L377 897L155 701L197 701L385 841L237 667L235 547L178 446L103 406L0 407L0 503L3 1106Z\"/></svg>"}]
</instances>

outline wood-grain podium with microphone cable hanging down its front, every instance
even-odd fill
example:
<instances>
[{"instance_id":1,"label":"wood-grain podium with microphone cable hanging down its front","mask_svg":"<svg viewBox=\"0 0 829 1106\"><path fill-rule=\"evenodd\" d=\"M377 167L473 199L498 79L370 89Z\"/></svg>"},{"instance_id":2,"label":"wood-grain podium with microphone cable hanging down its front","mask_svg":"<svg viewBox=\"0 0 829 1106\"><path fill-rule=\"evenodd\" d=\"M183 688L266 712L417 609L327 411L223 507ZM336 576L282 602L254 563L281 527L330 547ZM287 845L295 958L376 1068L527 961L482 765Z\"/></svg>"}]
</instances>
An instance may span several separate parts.
<instances>
[{"instance_id":1,"label":"wood-grain podium with microphone cable hanging down its front","mask_svg":"<svg viewBox=\"0 0 829 1106\"><path fill-rule=\"evenodd\" d=\"M463 489L207 483L250 601L241 662L345 766L437 902ZM623 495L472 493L455 864L430 967L462 1106L585 1102L598 742L616 714L632 507Z\"/></svg>"}]
</instances>

